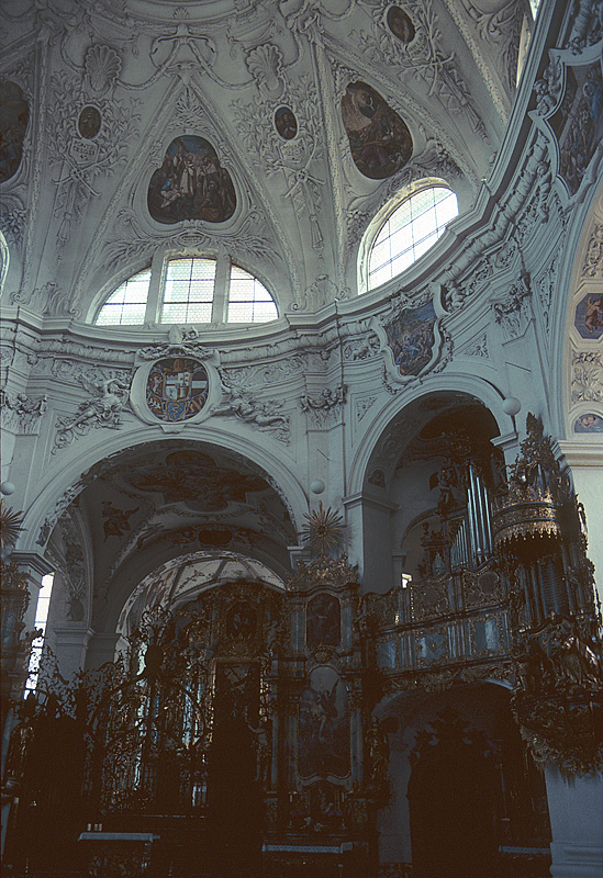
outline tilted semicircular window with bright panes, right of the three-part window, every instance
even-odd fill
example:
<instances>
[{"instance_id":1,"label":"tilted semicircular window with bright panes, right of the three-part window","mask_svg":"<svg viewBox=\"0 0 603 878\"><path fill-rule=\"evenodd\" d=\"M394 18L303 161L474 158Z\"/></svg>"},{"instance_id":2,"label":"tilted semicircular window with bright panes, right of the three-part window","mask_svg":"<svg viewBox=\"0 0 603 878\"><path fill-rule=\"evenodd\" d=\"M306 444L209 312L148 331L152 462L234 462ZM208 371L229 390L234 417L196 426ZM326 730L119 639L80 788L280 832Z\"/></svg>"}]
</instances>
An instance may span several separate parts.
<instances>
[{"instance_id":1,"label":"tilted semicircular window with bright panes, right of the three-part window","mask_svg":"<svg viewBox=\"0 0 603 878\"><path fill-rule=\"evenodd\" d=\"M442 237L458 215L455 193L444 185L411 195L386 219L369 256L368 289L373 290L412 266Z\"/></svg>"}]
</instances>

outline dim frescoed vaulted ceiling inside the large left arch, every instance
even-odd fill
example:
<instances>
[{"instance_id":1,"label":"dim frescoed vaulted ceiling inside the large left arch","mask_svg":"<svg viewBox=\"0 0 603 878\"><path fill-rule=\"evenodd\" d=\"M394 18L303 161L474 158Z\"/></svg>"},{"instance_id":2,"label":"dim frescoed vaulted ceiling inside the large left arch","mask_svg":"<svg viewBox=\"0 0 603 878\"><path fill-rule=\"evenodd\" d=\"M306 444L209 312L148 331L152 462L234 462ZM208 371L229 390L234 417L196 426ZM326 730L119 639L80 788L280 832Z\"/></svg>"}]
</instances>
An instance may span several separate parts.
<instances>
[{"instance_id":1,"label":"dim frescoed vaulted ceiling inside the large left arch","mask_svg":"<svg viewBox=\"0 0 603 878\"><path fill-rule=\"evenodd\" d=\"M113 455L87 481L48 544L72 621L86 581L99 621L120 612L145 576L190 552L242 553L288 570L287 547L297 542L290 511L269 476L239 454L170 439Z\"/></svg>"}]
</instances>

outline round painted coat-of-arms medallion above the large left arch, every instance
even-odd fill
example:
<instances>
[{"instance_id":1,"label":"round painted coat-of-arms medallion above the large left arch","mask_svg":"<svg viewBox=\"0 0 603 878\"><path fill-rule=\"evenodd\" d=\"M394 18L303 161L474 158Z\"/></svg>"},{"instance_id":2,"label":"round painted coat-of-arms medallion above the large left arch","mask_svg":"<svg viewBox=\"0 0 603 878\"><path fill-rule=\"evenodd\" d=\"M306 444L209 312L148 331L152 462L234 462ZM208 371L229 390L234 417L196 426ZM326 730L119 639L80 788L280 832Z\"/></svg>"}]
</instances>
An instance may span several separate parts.
<instances>
[{"instance_id":1,"label":"round painted coat-of-arms medallion above the large left arch","mask_svg":"<svg viewBox=\"0 0 603 878\"><path fill-rule=\"evenodd\" d=\"M192 357L167 357L150 368L146 403L156 418L170 423L189 420L208 401L209 376Z\"/></svg>"}]
</instances>

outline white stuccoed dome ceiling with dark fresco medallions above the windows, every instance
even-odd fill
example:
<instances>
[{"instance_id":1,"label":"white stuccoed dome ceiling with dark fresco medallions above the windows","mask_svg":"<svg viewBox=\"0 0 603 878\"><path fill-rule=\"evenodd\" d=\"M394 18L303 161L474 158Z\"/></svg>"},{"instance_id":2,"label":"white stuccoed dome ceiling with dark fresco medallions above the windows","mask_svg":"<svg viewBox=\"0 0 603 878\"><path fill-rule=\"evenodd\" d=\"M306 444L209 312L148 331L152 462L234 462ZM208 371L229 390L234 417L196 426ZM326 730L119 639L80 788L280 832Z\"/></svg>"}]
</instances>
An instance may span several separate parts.
<instances>
[{"instance_id":1,"label":"white stuccoed dome ceiling with dark fresco medallions above the windows","mask_svg":"<svg viewBox=\"0 0 603 878\"><path fill-rule=\"evenodd\" d=\"M531 14L524 0L19 0L4 21L4 112L23 130L18 169L4 162L5 290L85 319L166 250L227 252L281 313L355 295L360 239L395 192L436 178L472 204Z\"/></svg>"}]
</instances>

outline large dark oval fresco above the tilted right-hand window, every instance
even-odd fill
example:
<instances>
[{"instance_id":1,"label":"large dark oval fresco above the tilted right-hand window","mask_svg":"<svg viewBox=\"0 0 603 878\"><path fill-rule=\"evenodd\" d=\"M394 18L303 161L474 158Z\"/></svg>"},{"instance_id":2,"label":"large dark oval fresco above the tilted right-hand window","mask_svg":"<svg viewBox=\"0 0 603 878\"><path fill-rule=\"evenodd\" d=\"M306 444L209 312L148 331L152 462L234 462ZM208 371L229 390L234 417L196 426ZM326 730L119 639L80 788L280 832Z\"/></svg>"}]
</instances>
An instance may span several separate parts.
<instances>
[{"instance_id":1,"label":"large dark oval fresco above the tilted right-hand window","mask_svg":"<svg viewBox=\"0 0 603 878\"><path fill-rule=\"evenodd\" d=\"M411 133L395 110L366 82L350 82L342 98L342 119L354 164L365 177L383 180L413 151Z\"/></svg>"}]
</instances>

